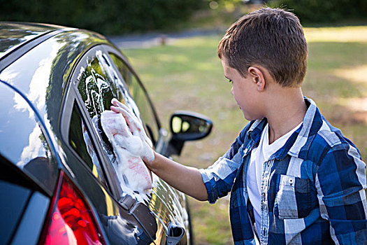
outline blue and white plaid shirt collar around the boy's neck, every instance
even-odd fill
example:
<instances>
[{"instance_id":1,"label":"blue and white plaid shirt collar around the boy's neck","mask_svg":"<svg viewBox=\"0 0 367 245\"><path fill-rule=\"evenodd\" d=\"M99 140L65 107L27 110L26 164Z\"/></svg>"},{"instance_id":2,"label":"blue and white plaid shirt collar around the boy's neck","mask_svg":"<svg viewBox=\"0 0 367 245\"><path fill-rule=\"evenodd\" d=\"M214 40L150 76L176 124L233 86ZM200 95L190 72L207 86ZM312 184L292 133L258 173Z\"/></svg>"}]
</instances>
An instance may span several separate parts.
<instances>
[{"instance_id":1,"label":"blue and white plaid shirt collar around the boy's neck","mask_svg":"<svg viewBox=\"0 0 367 245\"><path fill-rule=\"evenodd\" d=\"M304 99L308 109L303 118L302 125L291 137L289 137L285 146L280 148L275 155L273 155L278 160L285 158L287 154L296 158L306 158L307 151L301 151L301 148L305 146L308 139L315 137L322 126L322 115L315 102L307 97L304 97ZM264 130L266 123L268 123L266 118L255 120L254 123L252 123L248 132L254 146L259 144L261 132Z\"/></svg>"}]
</instances>

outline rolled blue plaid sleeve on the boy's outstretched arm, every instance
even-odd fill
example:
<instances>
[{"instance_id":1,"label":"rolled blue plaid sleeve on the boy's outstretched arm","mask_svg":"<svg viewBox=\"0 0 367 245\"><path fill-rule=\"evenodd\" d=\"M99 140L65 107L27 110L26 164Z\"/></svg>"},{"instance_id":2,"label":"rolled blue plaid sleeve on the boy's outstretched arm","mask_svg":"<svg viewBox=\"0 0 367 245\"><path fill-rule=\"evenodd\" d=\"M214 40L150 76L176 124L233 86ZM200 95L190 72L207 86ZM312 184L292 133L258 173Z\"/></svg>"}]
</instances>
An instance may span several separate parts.
<instances>
[{"instance_id":1,"label":"rolled blue plaid sleeve on the boy's outstretched arm","mask_svg":"<svg viewBox=\"0 0 367 245\"><path fill-rule=\"evenodd\" d=\"M240 167L243 153L245 129L233 142L231 148L208 169L199 169L208 192L208 201L213 204L218 198L226 196L233 186L237 169Z\"/></svg>"}]
</instances>

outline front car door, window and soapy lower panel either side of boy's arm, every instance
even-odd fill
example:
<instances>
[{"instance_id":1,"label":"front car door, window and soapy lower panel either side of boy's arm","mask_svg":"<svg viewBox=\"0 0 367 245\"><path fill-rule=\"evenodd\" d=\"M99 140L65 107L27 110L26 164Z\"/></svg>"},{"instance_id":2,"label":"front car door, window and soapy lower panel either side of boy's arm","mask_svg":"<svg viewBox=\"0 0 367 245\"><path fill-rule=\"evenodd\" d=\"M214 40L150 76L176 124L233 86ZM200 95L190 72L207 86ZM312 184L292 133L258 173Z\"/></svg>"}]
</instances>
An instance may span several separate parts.
<instances>
[{"instance_id":1,"label":"front car door, window and soapy lower panel either side of boy's arm","mask_svg":"<svg viewBox=\"0 0 367 245\"><path fill-rule=\"evenodd\" d=\"M162 155L166 155L168 152L167 132L161 127L156 109L141 79L138 77L138 74L134 71L131 64L129 64L127 57L124 57L124 55L114 48L108 48L106 51L108 55L110 55L113 65L116 66L118 73L129 89L131 97L134 98L140 110L140 115L141 118L143 118L147 132L150 134L152 141L155 142L155 151ZM167 155L167 157L169 157L169 155ZM185 235L189 238L190 224L185 195L157 178L152 190L152 199L155 199L154 202L149 203L152 210L164 210L156 212L158 218L167 226L176 223L180 228L185 230Z\"/></svg>"}]
</instances>

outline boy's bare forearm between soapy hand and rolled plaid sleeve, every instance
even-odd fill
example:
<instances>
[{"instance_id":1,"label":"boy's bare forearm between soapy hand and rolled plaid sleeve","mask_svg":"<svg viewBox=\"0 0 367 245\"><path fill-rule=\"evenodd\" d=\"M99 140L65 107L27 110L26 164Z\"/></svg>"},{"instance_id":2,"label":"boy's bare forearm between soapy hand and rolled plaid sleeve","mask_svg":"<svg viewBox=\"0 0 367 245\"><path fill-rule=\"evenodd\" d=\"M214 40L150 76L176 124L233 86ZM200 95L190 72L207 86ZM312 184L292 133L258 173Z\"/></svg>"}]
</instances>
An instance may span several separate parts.
<instances>
[{"instance_id":1,"label":"boy's bare forearm between soapy hand and rolled plaid sleeve","mask_svg":"<svg viewBox=\"0 0 367 245\"><path fill-rule=\"evenodd\" d=\"M199 169L187 167L154 152L154 161L145 165L170 186L200 201L208 200Z\"/></svg>"}]
</instances>

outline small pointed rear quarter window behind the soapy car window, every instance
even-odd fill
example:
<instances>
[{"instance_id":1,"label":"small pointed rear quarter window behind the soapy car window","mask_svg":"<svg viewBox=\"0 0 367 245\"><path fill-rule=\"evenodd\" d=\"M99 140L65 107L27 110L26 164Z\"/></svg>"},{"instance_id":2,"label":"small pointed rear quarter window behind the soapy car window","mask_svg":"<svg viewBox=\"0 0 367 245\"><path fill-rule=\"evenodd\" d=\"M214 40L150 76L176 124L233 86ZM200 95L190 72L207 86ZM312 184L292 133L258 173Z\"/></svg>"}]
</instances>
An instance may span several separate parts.
<instances>
[{"instance_id":1,"label":"small pointed rear quarter window behind the soapy car window","mask_svg":"<svg viewBox=\"0 0 367 245\"><path fill-rule=\"evenodd\" d=\"M71 113L69 144L75 152L78 153L80 158L82 158L83 162L85 162L85 165L92 171L93 175L96 176L104 186L107 186L100 160L91 139L92 137L87 127L85 127L85 122L80 116L80 110L78 109L78 106L74 104L73 112Z\"/></svg>"}]
</instances>

